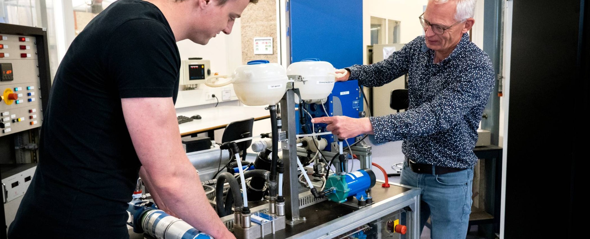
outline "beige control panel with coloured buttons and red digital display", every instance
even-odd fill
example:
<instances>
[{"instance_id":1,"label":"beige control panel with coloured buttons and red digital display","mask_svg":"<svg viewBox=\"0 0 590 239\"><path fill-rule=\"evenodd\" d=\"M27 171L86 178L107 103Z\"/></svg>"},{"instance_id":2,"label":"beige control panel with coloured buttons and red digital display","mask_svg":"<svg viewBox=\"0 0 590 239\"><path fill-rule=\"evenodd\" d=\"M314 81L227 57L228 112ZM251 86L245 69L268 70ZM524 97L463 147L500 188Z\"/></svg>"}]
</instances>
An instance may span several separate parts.
<instances>
[{"instance_id":1,"label":"beige control panel with coloured buttons and red digital display","mask_svg":"<svg viewBox=\"0 0 590 239\"><path fill-rule=\"evenodd\" d=\"M41 126L37 52L35 37L0 36L0 137Z\"/></svg>"}]
</instances>

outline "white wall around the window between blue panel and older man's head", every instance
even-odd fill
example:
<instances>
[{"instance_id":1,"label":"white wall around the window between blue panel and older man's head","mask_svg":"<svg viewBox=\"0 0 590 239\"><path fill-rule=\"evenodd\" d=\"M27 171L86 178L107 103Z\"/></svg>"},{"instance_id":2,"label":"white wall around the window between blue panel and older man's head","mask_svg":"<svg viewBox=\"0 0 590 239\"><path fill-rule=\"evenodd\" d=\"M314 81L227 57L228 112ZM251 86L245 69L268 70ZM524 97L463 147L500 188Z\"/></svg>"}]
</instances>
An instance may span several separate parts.
<instances>
[{"instance_id":1,"label":"white wall around the window between blue panel and older man's head","mask_svg":"<svg viewBox=\"0 0 590 239\"><path fill-rule=\"evenodd\" d=\"M371 16L401 21L399 39L408 43L423 30L418 16L428 0L365 0L363 1L363 63L367 64L366 46L371 45Z\"/></svg>"}]
</instances>

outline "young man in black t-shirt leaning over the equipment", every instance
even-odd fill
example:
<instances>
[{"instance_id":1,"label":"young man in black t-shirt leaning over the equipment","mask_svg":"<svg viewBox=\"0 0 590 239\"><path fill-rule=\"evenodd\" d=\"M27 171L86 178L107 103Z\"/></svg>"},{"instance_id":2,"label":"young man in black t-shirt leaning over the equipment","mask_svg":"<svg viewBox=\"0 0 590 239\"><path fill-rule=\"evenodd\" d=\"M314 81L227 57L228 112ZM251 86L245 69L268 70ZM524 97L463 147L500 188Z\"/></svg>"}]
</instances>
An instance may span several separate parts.
<instances>
[{"instance_id":1,"label":"young man in black t-shirt leaning over the equipment","mask_svg":"<svg viewBox=\"0 0 590 239\"><path fill-rule=\"evenodd\" d=\"M74 39L58 68L40 162L8 236L128 238L139 175L164 211L234 238L209 207L182 149L176 42L230 34L256 0L119 0Z\"/></svg>"}]
</instances>

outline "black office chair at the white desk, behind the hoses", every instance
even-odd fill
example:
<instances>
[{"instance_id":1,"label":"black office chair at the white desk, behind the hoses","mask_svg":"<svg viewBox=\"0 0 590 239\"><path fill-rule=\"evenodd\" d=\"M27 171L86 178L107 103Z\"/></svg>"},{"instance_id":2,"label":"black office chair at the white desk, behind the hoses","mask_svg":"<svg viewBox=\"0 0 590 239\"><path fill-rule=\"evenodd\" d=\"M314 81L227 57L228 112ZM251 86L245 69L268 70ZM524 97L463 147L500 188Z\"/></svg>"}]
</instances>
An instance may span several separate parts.
<instances>
[{"instance_id":1,"label":"black office chair at the white desk, behind the hoses","mask_svg":"<svg viewBox=\"0 0 590 239\"><path fill-rule=\"evenodd\" d=\"M242 138L252 137L252 127L254 125L254 118L249 119L242 119L239 121L231 122L230 124L225 127L225 131L223 132L223 136L221 137L221 142L231 142L240 140ZM252 140L238 142L238 148L240 148L239 153L240 157L242 157L242 161L246 161L246 150L252 144ZM236 158L236 160L238 160Z\"/></svg>"}]
</instances>

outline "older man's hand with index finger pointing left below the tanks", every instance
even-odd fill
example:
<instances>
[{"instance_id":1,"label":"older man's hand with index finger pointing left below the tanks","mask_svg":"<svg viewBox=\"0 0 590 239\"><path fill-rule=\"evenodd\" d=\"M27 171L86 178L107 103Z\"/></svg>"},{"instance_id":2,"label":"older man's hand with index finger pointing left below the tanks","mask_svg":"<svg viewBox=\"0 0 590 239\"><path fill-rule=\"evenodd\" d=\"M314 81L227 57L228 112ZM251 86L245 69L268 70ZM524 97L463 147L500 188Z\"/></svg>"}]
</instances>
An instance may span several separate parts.
<instances>
[{"instance_id":1,"label":"older man's hand with index finger pointing left below the tanks","mask_svg":"<svg viewBox=\"0 0 590 239\"><path fill-rule=\"evenodd\" d=\"M346 71L346 70L345 70ZM313 118L312 123L324 123L327 131L342 140L356 137L359 134L375 134L369 118L350 118L346 116Z\"/></svg>"}]
</instances>

